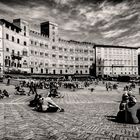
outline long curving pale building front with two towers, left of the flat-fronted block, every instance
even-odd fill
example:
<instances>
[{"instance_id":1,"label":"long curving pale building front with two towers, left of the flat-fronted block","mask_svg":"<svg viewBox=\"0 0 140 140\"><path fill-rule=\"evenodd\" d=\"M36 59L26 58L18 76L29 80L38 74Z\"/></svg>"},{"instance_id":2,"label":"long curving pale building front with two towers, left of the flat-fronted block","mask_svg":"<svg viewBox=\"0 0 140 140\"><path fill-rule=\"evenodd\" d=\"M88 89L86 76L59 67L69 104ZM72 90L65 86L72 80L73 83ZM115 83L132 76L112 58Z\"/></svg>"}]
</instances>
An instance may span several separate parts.
<instances>
[{"instance_id":1,"label":"long curving pale building front with two towers, left of the flat-fronted block","mask_svg":"<svg viewBox=\"0 0 140 140\"><path fill-rule=\"evenodd\" d=\"M35 29L22 19L1 19L0 41L1 72L89 74L95 63L93 43L62 40L51 22Z\"/></svg>"}]
</instances>

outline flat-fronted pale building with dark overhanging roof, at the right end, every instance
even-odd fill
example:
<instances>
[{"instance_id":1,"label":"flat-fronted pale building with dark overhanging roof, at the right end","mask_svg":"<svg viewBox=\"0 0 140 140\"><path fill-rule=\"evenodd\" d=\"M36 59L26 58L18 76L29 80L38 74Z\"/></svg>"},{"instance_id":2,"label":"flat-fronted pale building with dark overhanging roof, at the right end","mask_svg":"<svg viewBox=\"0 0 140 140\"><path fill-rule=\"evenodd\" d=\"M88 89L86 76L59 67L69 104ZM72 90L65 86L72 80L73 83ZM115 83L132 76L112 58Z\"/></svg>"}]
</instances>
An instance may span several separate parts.
<instances>
[{"instance_id":1,"label":"flat-fronted pale building with dark overhanging roof, at the right end","mask_svg":"<svg viewBox=\"0 0 140 140\"><path fill-rule=\"evenodd\" d=\"M137 49L95 45L96 76L138 75Z\"/></svg>"}]
</instances>

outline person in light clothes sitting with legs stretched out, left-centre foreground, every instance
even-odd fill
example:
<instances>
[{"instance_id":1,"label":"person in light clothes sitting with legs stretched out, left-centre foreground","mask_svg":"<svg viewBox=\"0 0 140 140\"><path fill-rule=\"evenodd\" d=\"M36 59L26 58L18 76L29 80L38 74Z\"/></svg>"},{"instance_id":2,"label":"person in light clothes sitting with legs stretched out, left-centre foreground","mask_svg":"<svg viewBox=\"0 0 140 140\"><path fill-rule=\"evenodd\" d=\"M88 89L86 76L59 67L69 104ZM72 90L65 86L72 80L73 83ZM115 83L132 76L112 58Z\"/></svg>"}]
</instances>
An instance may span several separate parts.
<instances>
[{"instance_id":1,"label":"person in light clothes sitting with legs stretched out, left-centre foreground","mask_svg":"<svg viewBox=\"0 0 140 140\"><path fill-rule=\"evenodd\" d=\"M50 95L48 95L48 97L42 97L39 99L39 102L41 104L41 109L40 110L40 106L39 106L39 110L38 108L36 108L37 111L41 111L41 112L64 112L64 109L59 107L50 97Z\"/></svg>"}]
</instances>

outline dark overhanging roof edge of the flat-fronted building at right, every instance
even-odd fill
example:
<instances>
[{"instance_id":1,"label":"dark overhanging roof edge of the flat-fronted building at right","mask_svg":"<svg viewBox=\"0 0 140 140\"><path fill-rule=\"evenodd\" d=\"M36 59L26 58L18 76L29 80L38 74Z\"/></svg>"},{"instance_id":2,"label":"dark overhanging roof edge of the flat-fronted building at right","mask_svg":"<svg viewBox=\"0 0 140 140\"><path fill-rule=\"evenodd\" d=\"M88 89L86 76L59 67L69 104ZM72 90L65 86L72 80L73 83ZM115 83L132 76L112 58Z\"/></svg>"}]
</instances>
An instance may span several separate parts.
<instances>
[{"instance_id":1,"label":"dark overhanging roof edge of the flat-fronted building at right","mask_svg":"<svg viewBox=\"0 0 140 140\"><path fill-rule=\"evenodd\" d=\"M126 48L126 49L138 49L138 47L129 47L129 46L116 46L116 45L101 45L95 44L94 47L104 47L104 48Z\"/></svg>"}]
</instances>

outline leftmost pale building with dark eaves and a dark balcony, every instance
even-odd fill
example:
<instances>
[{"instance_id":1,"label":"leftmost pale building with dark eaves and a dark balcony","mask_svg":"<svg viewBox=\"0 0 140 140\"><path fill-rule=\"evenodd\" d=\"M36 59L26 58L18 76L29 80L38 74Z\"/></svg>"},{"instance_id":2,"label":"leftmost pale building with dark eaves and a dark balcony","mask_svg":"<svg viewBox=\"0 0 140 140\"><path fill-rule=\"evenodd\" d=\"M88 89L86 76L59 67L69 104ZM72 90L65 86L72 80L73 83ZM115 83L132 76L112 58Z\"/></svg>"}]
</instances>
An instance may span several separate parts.
<instances>
[{"instance_id":1,"label":"leftmost pale building with dark eaves and a dark balcony","mask_svg":"<svg viewBox=\"0 0 140 140\"><path fill-rule=\"evenodd\" d=\"M19 70L29 72L29 34L27 22L20 22L21 30L16 24L0 20L0 69L3 71Z\"/></svg>"}]
</instances>

